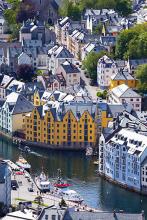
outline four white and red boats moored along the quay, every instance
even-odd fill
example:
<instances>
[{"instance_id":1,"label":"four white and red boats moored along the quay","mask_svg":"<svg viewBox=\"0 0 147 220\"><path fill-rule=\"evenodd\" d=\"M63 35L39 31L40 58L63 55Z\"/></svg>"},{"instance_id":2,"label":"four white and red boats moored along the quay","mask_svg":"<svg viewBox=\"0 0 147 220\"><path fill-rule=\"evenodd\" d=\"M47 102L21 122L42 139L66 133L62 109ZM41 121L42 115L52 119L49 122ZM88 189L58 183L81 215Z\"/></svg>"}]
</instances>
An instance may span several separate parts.
<instances>
[{"instance_id":1,"label":"four white and red boats moored along the quay","mask_svg":"<svg viewBox=\"0 0 147 220\"><path fill-rule=\"evenodd\" d=\"M22 156L16 161L16 165L22 170L29 171L31 169L31 165ZM49 178L43 171L39 176L35 177L34 181L40 192L52 192L54 196L63 198L65 201L81 203L83 198L76 191L68 189L71 184L62 179L60 169L57 172L57 178L53 182L49 181Z\"/></svg>"}]
</instances>

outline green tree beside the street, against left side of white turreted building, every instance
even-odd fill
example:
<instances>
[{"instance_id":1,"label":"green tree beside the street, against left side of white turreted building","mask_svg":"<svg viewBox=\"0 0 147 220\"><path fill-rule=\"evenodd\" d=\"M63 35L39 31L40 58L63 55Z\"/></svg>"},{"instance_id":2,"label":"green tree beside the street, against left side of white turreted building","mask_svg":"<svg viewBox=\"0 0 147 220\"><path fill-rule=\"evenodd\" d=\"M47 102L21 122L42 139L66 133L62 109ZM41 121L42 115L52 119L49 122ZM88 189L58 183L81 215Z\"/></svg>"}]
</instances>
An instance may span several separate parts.
<instances>
[{"instance_id":1,"label":"green tree beside the street, against left side of white turreted building","mask_svg":"<svg viewBox=\"0 0 147 220\"><path fill-rule=\"evenodd\" d=\"M91 79L97 79L97 62L98 60L107 54L106 51L101 51L99 53L90 52L83 61L83 66L87 69Z\"/></svg>"}]
</instances>

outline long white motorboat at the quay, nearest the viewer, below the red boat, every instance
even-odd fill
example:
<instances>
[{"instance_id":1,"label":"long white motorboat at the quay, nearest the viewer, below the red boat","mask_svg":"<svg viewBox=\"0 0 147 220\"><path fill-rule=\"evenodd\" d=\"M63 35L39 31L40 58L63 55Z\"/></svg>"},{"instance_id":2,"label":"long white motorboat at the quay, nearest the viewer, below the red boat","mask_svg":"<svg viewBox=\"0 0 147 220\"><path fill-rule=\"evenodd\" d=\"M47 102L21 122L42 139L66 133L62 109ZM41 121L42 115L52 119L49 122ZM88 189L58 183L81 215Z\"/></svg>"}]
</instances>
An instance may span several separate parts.
<instances>
[{"instance_id":1,"label":"long white motorboat at the quay, nearest the viewer, below the red boat","mask_svg":"<svg viewBox=\"0 0 147 220\"><path fill-rule=\"evenodd\" d=\"M65 201L81 203L83 198L74 190L58 190L57 194Z\"/></svg>"}]
</instances>

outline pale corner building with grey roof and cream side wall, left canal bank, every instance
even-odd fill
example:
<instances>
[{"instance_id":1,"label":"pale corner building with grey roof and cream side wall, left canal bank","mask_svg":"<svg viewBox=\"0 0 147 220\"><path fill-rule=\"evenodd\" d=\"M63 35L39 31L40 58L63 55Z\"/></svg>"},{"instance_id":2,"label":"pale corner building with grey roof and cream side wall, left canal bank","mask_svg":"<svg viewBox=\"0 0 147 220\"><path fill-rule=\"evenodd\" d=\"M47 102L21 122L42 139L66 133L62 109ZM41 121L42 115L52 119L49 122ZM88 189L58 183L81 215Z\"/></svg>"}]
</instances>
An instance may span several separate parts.
<instances>
[{"instance_id":1,"label":"pale corner building with grey roof and cream side wall, left canal bank","mask_svg":"<svg viewBox=\"0 0 147 220\"><path fill-rule=\"evenodd\" d=\"M33 104L25 97L12 92L5 101L0 102L0 129L11 135L17 131L23 132L24 118L33 108Z\"/></svg>"}]
</instances>

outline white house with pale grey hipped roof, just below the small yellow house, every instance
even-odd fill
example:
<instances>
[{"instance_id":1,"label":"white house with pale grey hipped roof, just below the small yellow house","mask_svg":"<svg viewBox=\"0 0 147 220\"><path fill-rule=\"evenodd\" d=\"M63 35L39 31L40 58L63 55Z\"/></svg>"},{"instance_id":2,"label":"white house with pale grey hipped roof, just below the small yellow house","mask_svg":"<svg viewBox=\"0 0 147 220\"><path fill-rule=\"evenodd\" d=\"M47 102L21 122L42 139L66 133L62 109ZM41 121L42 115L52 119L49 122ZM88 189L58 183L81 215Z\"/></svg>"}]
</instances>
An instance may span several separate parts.
<instances>
[{"instance_id":1,"label":"white house with pale grey hipped roof, just below the small yellow house","mask_svg":"<svg viewBox=\"0 0 147 220\"><path fill-rule=\"evenodd\" d=\"M130 103L135 111L141 111L142 97L127 85L119 85L109 91L110 103Z\"/></svg>"}]
</instances>

